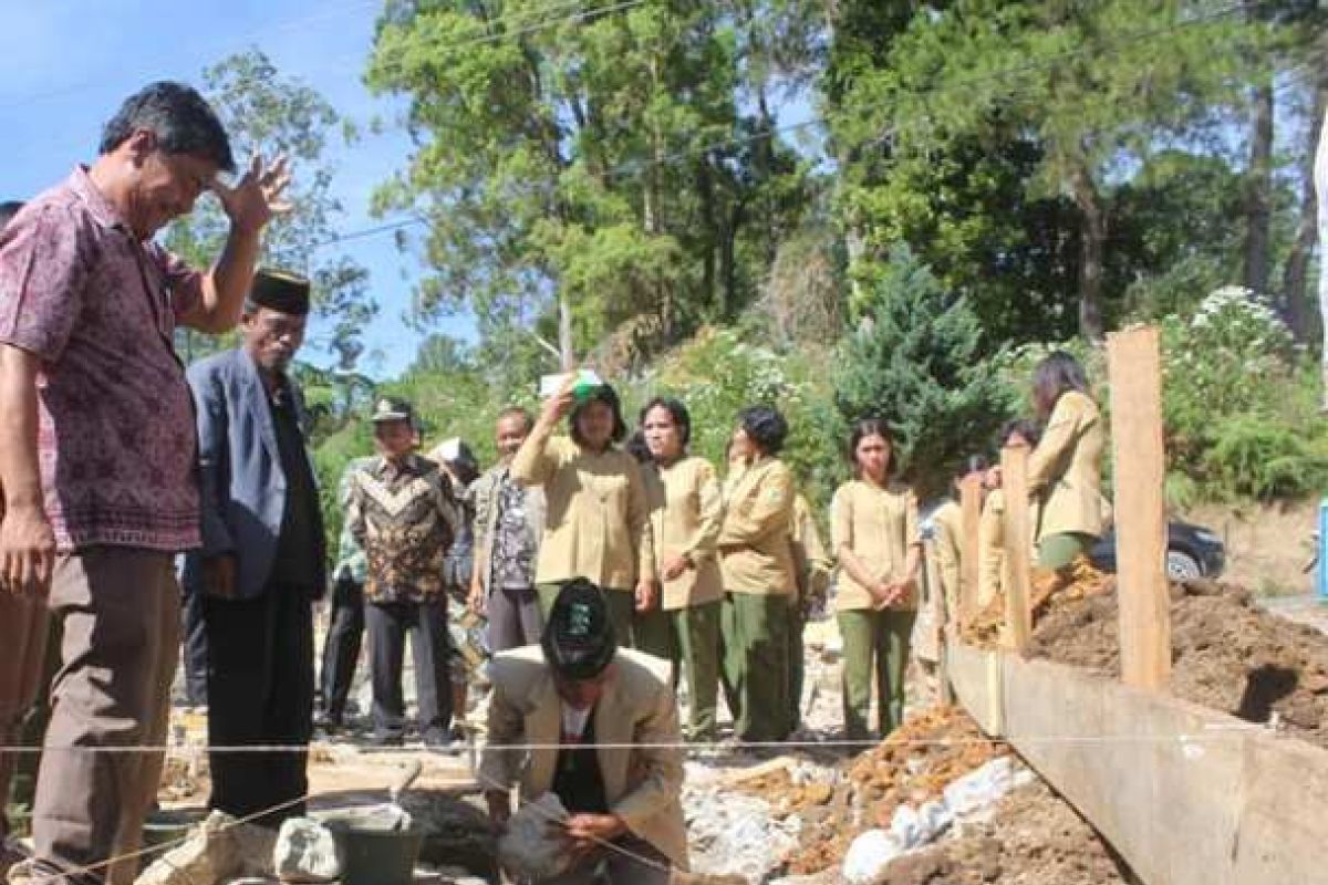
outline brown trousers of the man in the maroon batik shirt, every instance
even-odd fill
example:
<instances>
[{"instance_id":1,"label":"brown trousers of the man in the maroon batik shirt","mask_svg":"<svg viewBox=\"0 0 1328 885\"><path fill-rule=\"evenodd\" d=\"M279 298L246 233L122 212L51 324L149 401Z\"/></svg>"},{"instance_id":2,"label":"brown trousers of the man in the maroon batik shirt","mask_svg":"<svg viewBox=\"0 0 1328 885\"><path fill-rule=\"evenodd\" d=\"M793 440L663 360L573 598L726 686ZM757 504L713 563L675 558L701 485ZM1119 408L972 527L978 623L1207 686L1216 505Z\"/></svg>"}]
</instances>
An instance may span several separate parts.
<instances>
[{"instance_id":1,"label":"brown trousers of the man in the maroon batik shirt","mask_svg":"<svg viewBox=\"0 0 1328 885\"><path fill-rule=\"evenodd\" d=\"M61 555L49 609L62 641L33 811L39 870L130 882L138 858L106 861L139 848L163 752L97 750L166 742L179 655L174 557L127 547Z\"/></svg>"}]
</instances>

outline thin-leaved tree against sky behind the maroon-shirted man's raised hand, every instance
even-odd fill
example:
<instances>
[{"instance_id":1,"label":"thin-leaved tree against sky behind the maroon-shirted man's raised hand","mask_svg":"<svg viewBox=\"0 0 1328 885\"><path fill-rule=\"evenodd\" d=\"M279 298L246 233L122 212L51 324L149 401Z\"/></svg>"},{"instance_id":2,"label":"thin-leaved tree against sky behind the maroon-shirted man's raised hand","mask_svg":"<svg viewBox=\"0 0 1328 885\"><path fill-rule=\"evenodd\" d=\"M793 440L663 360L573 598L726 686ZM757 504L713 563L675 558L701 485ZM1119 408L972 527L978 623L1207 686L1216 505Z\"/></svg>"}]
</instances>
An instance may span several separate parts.
<instances>
[{"instance_id":1,"label":"thin-leaved tree against sky behind the maroon-shirted man's raised hand","mask_svg":"<svg viewBox=\"0 0 1328 885\"><path fill-rule=\"evenodd\" d=\"M223 58L203 72L203 93L231 137L236 157L286 154L295 167L290 191L292 210L268 226L260 263L290 268L313 281L315 316L331 322L325 346L337 366L349 372L364 349L364 326L377 313L368 295L368 271L343 252L327 248L336 239L341 214L332 195L335 170L329 139L351 129L323 96L286 77L259 49ZM181 255L208 263L226 239L226 219L215 200L175 222L166 243ZM182 352L197 358L223 342L182 333Z\"/></svg>"}]
</instances>

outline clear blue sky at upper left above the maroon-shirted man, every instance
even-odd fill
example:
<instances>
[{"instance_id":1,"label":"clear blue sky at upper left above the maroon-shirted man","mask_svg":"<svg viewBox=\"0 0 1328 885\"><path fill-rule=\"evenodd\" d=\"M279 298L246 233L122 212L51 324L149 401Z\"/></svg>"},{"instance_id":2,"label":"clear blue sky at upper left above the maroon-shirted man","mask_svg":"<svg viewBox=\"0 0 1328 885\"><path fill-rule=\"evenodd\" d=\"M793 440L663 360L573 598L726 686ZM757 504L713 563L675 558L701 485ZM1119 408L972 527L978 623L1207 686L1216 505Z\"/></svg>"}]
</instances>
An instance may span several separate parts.
<instances>
[{"instance_id":1,"label":"clear blue sky at upper left above the maroon-shirted man","mask_svg":"<svg viewBox=\"0 0 1328 885\"><path fill-rule=\"evenodd\" d=\"M259 46L287 76L323 93L347 118L390 121L396 106L374 98L360 74L381 0L7 0L0 54L0 131L5 133L0 199L24 199L93 158L102 122L153 80L197 84L205 66ZM333 155L335 190L345 206L343 231L380 224L368 214L373 187L400 169L408 138L392 127L365 134ZM296 170L299 174L299 170ZM420 267L390 234L356 239L347 253L369 268L382 306L367 330L361 368L393 375L414 356L420 334L401 320ZM438 332L474 336L466 317ZM317 329L315 329L315 340ZM316 349L313 362L325 362Z\"/></svg>"}]
</instances>

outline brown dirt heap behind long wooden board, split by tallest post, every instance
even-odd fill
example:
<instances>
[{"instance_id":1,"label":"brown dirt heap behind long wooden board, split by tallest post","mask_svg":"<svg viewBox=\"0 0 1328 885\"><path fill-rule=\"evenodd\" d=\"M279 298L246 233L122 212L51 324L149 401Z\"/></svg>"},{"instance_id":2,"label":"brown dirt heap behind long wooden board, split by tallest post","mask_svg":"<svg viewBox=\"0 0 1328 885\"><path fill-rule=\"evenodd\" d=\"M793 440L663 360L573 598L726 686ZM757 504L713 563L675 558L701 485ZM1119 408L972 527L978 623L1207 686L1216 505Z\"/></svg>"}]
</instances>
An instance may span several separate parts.
<instances>
[{"instance_id":1,"label":"brown dirt heap behind long wooden board, split by tallest post","mask_svg":"<svg viewBox=\"0 0 1328 885\"><path fill-rule=\"evenodd\" d=\"M1056 606L1029 654L1118 677L1114 586ZM1242 588L1171 585L1171 694L1328 747L1328 636L1259 609Z\"/></svg>"}]
</instances>

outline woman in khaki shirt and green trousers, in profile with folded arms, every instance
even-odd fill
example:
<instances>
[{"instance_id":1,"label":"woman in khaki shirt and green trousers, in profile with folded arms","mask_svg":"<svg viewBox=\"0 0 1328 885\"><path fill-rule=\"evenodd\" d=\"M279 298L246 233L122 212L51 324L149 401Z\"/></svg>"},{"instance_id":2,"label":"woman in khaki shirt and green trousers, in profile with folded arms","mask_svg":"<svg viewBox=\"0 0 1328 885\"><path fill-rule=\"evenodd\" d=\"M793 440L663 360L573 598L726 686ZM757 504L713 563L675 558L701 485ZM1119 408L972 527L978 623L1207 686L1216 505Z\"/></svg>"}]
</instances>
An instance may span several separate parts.
<instances>
[{"instance_id":1,"label":"woman in khaki shirt and green trousers, in profile with folded arms","mask_svg":"<svg viewBox=\"0 0 1328 885\"><path fill-rule=\"evenodd\" d=\"M738 414L717 540L724 576L724 695L740 740L784 740L789 722L789 612L794 590L793 474L776 455L789 425L774 409Z\"/></svg>"}]
</instances>

